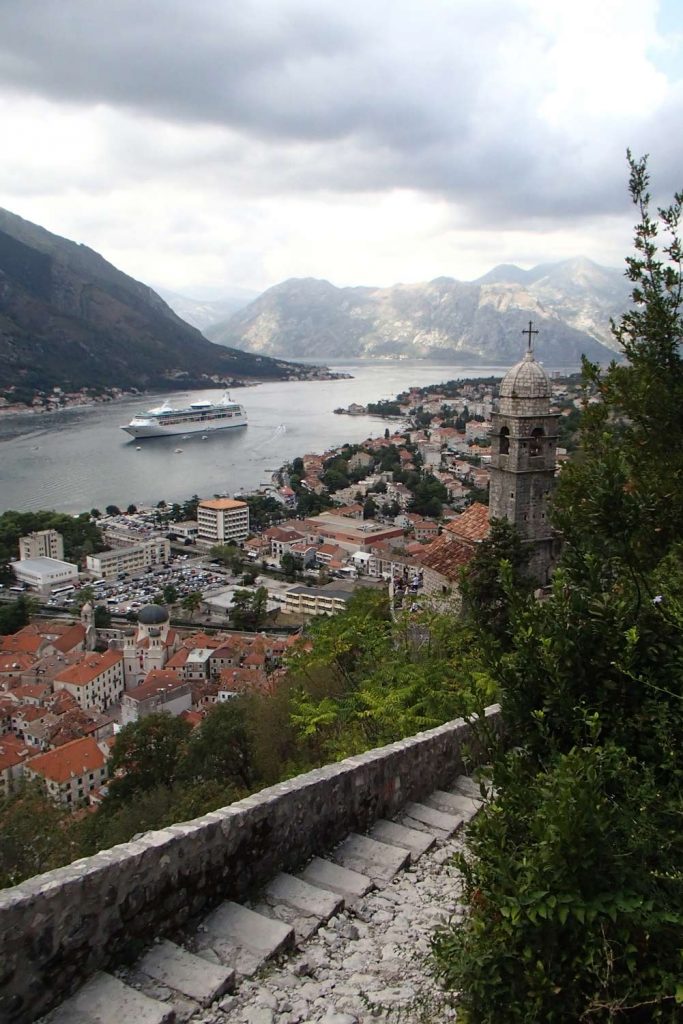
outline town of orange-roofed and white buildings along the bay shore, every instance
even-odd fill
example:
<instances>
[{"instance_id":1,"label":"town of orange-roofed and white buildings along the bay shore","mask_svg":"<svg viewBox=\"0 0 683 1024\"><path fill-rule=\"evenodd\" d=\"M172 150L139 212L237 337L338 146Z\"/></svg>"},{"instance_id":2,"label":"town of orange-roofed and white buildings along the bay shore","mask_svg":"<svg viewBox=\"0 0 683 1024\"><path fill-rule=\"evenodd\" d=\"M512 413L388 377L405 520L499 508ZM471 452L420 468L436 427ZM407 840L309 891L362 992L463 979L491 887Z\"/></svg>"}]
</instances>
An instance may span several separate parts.
<instances>
[{"instance_id":1,"label":"town of orange-roofed and white buildings along the bay shore","mask_svg":"<svg viewBox=\"0 0 683 1024\"><path fill-rule=\"evenodd\" d=\"M559 438L566 424L570 443L579 383L548 388L539 415L559 424ZM4 596L37 597L43 617L0 636L0 798L37 778L55 802L96 806L127 723L164 711L197 725L240 693L274 692L297 629L343 610L358 587L388 587L409 613L457 593L488 536L492 436L500 456L507 429L494 429L498 390L496 381L411 389L385 403L401 422L384 436L304 454L251 495L93 510L106 547L81 564L65 560L56 530L20 538ZM557 437L539 472L568 458ZM233 579L227 556L238 559ZM226 628L238 593L260 595L258 632ZM178 605L160 594L195 594L201 627L172 622Z\"/></svg>"}]
</instances>

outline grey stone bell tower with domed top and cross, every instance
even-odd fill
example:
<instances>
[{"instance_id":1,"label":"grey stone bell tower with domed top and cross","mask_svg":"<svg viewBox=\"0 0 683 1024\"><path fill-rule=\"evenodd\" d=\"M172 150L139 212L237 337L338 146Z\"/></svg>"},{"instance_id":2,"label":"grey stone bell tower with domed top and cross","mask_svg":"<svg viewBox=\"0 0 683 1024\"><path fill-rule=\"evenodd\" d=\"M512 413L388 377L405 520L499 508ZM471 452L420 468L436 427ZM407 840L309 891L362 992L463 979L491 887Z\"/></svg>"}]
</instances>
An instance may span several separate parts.
<instances>
[{"instance_id":1,"label":"grey stone bell tower with domed top and cross","mask_svg":"<svg viewBox=\"0 0 683 1024\"><path fill-rule=\"evenodd\" d=\"M548 583L556 541L548 521L555 477L558 417L550 412L551 387L528 346L521 362L505 375L500 404L492 416L489 517L508 519L531 549L529 570Z\"/></svg>"}]
</instances>

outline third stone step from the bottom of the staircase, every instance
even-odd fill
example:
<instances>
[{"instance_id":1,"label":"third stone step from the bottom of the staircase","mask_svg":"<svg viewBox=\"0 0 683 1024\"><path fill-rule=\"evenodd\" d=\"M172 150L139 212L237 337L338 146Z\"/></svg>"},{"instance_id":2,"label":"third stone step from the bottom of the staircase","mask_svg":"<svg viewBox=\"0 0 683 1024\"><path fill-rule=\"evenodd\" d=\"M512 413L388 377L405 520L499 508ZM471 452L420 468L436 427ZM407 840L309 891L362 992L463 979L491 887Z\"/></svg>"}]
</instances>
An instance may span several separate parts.
<instances>
[{"instance_id":1,"label":"third stone step from the bottom of the staircase","mask_svg":"<svg viewBox=\"0 0 683 1024\"><path fill-rule=\"evenodd\" d=\"M294 929L227 901L205 918L195 942L200 955L204 950L213 950L238 974L252 975L266 961L294 945Z\"/></svg>"}]
</instances>

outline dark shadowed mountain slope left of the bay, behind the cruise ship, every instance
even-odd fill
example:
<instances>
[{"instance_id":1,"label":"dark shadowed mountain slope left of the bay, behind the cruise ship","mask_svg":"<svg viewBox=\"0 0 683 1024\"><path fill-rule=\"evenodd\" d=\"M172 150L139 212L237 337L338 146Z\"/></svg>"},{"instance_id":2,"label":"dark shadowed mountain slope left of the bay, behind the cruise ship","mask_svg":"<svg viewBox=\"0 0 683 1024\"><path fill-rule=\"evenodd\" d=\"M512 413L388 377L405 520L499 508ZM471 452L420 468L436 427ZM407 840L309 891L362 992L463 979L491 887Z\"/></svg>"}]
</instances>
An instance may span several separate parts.
<instances>
[{"instance_id":1,"label":"dark shadowed mountain slope left of the bay, behind the cruise ship","mask_svg":"<svg viewBox=\"0 0 683 1024\"><path fill-rule=\"evenodd\" d=\"M0 209L0 389L207 387L299 373L207 341L98 253Z\"/></svg>"}]
</instances>

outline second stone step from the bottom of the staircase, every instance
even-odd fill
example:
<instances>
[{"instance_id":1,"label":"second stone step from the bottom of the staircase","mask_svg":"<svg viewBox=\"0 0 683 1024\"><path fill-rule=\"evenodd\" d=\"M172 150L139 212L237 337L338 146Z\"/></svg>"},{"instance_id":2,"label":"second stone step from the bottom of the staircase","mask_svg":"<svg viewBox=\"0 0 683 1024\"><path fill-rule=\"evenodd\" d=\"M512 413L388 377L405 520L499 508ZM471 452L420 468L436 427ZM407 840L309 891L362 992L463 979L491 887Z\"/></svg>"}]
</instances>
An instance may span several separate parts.
<instances>
[{"instance_id":1,"label":"second stone step from the bottom of the staircase","mask_svg":"<svg viewBox=\"0 0 683 1024\"><path fill-rule=\"evenodd\" d=\"M202 1007L208 1007L219 995L234 988L234 971L231 968L210 964L173 942L154 945L135 967L148 978L188 996Z\"/></svg>"}]
</instances>

